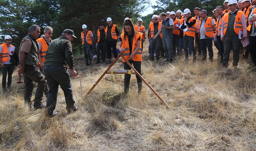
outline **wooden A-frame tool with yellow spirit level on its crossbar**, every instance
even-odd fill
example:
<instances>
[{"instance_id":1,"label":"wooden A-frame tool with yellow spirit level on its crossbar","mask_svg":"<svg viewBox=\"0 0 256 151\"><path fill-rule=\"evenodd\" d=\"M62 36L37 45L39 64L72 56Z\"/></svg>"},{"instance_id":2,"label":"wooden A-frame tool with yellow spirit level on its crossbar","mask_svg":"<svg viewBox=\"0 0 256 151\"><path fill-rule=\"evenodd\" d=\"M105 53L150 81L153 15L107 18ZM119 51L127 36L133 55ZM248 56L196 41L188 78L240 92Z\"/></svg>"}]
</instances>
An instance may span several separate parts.
<instances>
[{"instance_id":1,"label":"wooden A-frame tool with yellow spirit level on its crossbar","mask_svg":"<svg viewBox=\"0 0 256 151\"><path fill-rule=\"evenodd\" d=\"M125 59L121 52L117 58L109 65L109 67L105 70L105 72L100 76L100 78L95 82L92 88L87 92L86 95L90 94L95 86L100 82L100 80L104 77L105 74L137 74L139 78L155 93L155 95L166 105L169 109L169 105L158 95L158 93L149 85L149 83L138 73L138 71L130 64L130 62ZM116 61L122 57L125 62L132 68L132 70L110 70L110 68L116 63ZM109 72L110 70L110 72ZM134 71L134 72L133 72Z\"/></svg>"}]
</instances>

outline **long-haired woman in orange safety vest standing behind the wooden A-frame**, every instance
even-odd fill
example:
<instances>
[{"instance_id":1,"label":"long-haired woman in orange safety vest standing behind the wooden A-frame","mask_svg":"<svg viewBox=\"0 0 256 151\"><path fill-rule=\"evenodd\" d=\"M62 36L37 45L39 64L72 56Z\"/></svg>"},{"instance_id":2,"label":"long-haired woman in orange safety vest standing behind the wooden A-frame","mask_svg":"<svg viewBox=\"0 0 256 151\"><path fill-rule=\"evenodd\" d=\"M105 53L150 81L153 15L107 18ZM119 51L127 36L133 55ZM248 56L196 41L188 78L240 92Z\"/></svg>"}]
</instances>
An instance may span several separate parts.
<instances>
[{"instance_id":1,"label":"long-haired woman in orange safety vest standing behind the wooden A-frame","mask_svg":"<svg viewBox=\"0 0 256 151\"><path fill-rule=\"evenodd\" d=\"M130 64L133 64L134 68L141 74L141 33L136 32L134 25L130 19L125 20L124 22L124 33L121 34L120 42L118 44L118 50L123 52L125 59L129 61ZM126 49L125 49L126 48ZM130 70L131 67L123 59L124 69ZM124 92L128 93L129 84L130 84L131 74L124 75ZM142 80L136 74L137 84L138 84L138 93L142 89Z\"/></svg>"}]
</instances>

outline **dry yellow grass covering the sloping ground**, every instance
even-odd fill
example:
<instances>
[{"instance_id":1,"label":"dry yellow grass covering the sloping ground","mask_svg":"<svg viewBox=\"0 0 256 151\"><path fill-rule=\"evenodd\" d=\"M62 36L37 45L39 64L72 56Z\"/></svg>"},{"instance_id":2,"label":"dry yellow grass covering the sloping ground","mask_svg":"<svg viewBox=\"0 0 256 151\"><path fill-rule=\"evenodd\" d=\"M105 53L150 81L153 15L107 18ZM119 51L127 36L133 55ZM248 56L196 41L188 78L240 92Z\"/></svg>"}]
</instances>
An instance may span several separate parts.
<instances>
[{"instance_id":1,"label":"dry yellow grass covering the sloping ground","mask_svg":"<svg viewBox=\"0 0 256 151\"><path fill-rule=\"evenodd\" d=\"M0 94L0 150L256 150L256 76L248 60L237 69L220 68L216 55L214 62L152 62L144 46L142 76L171 109L145 84L138 96L135 75L124 96L124 75L107 74L83 98L79 79L72 79L79 110L67 114L59 89L60 114L47 118L24 105L24 84L15 83L14 72L12 89ZM88 67L83 58L75 64L85 95L107 65ZM114 68L123 69L121 59Z\"/></svg>"}]
</instances>

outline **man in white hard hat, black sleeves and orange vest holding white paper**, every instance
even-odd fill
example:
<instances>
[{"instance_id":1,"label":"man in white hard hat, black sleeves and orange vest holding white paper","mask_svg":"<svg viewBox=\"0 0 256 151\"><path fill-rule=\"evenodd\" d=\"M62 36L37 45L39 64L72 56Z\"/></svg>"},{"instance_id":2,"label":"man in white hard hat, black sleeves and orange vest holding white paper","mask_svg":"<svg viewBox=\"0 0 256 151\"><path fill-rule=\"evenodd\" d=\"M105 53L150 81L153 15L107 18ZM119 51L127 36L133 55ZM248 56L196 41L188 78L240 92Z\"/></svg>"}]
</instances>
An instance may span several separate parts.
<instances>
[{"instance_id":1,"label":"man in white hard hat, black sleeves and orange vest holding white paper","mask_svg":"<svg viewBox=\"0 0 256 151\"><path fill-rule=\"evenodd\" d=\"M191 16L191 11L186 8L183 12L184 20L181 26L183 29L183 43L185 51L185 59L189 59L188 46L190 46L193 53L193 61L196 61L196 50L194 46L195 34L196 34L196 19Z\"/></svg>"}]
</instances>

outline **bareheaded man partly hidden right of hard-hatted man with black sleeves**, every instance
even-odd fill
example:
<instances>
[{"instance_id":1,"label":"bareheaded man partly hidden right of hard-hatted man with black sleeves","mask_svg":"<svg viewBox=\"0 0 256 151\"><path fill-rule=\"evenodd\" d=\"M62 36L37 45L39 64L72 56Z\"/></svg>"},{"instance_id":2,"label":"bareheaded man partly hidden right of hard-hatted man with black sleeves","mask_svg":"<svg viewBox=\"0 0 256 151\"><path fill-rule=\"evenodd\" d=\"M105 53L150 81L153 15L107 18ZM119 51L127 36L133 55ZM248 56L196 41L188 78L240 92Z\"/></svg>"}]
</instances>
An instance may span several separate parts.
<instances>
[{"instance_id":1,"label":"bareheaded man partly hidden right of hard-hatted man with black sleeves","mask_svg":"<svg viewBox=\"0 0 256 151\"><path fill-rule=\"evenodd\" d=\"M196 21L195 49L198 52L198 56L202 55L202 50L201 50L200 40L199 40L199 21L201 20L200 11L201 11L201 8L198 8L198 7L194 8L194 13L195 13L194 18L196 18L196 20L197 20Z\"/></svg>"}]
</instances>

